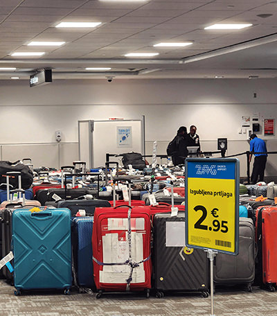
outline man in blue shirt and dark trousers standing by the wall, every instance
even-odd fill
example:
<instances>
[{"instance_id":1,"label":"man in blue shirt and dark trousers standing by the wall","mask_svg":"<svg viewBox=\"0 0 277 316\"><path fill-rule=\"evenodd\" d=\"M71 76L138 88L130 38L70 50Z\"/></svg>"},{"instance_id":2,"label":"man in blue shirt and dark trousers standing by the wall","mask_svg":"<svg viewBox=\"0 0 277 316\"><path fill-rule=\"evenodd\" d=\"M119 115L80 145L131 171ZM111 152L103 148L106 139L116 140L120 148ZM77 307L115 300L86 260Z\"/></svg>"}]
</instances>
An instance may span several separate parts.
<instances>
[{"instance_id":1,"label":"man in blue shirt and dark trousers standing by the wall","mask_svg":"<svg viewBox=\"0 0 277 316\"><path fill-rule=\"evenodd\" d=\"M259 139L256 134L251 134L250 136L250 156L249 156L249 163L251 162L251 158L253 152L256 152L253 171L251 175L251 183L256 184L258 182L258 177L260 178L259 181L264 180L265 175L265 164L267 164L267 154L262 152L267 152L267 146L265 145L265 141ZM261 153L259 153L261 152Z\"/></svg>"}]
</instances>

